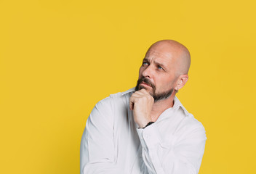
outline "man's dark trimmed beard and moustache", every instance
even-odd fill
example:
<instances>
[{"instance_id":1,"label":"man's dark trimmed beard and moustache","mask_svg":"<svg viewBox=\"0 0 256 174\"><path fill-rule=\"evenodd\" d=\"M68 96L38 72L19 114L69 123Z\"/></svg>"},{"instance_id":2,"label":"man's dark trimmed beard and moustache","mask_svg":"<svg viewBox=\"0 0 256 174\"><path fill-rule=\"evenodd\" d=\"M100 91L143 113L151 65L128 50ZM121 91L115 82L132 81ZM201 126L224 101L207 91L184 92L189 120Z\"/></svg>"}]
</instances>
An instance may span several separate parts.
<instances>
[{"instance_id":1,"label":"man's dark trimmed beard and moustache","mask_svg":"<svg viewBox=\"0 0 256 174\"><path fill-rule=\"evenodd\" d=\"M164 91L159 94L156 94L156 86L153 83L151 83L151 80L149 80L148 78L145 78L145 77L139 78L137 80L137 86L135 87L135 91L139 91L140 89L145 88L144 86L140 86L140 83L142 83L142 82L147 84L148 86L151 86L153 92L152 93L149 92L149 94L151 94L151 96L153 96L154 102L162 100L162 99L168 99L169 96L172 95L173 88L171 88L169 91Z\"/></svg>"}]
</instances>

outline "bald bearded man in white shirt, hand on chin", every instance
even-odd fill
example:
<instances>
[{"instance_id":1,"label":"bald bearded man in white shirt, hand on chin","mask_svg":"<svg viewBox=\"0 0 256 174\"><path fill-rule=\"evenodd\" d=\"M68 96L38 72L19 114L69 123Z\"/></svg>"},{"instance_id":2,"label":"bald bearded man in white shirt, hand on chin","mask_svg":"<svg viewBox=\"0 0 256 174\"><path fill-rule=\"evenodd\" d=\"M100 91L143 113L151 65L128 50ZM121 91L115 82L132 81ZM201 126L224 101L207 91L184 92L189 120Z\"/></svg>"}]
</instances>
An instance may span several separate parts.
<instances>
[{"instance_id":1,"label":"bald bearded man in white shirt, hand on chin","mask_svg":"<svg viewBox=\"0 0 256 174\"><path fill-rule=\"evenodd\" d=\"M81 139L81 174L199 173L204 127L175 96L188 80L190 62L181 43L153 43L136 88L92 109Z\"/></svg>"}]
</instances>

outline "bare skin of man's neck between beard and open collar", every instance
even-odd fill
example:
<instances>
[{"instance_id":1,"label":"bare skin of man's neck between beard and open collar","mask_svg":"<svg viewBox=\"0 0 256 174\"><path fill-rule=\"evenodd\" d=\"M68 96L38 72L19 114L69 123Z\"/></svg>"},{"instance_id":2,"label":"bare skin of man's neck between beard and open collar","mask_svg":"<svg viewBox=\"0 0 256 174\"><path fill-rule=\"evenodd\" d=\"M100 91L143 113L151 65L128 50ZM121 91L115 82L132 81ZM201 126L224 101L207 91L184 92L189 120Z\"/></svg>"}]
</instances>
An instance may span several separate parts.
<instances>
[{"instance_id":1,"label":"bare skin of man's neck between beard and open collar","mask_svg":"<svg viewBox=\"0 0 256 174\"><path fill-rule=\"evenodd\" d=\"M156 122L156 120L159 118L161 113L163 113L166 109L173 107L174 99L175 99L175 92L172 93L171 96L169 96L168 99L162 99L159 101L156 101L153 104L152 110L151 110L151 119L153 122Z\"/></svg>"}]
</instances>

